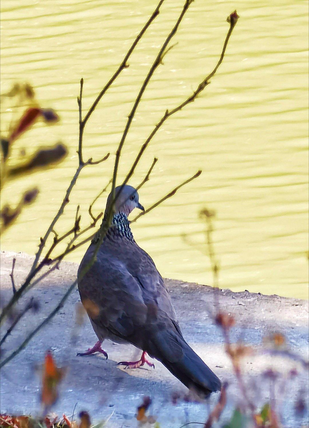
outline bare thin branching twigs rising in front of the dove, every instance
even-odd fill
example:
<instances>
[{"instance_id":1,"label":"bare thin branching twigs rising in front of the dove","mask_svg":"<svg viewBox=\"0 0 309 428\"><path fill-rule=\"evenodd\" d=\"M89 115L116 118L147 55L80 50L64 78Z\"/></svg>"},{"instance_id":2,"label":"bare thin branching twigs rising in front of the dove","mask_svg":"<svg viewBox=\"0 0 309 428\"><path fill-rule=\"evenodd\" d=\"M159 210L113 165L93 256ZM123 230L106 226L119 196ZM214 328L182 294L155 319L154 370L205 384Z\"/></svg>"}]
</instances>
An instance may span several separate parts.
<instances>
[{"instance_id":1,"label":"bare thin branching twigs rising in front of the dove","mask_svg":"<svg viewBox=\"0 0 309 428\"><path fill-rule=\"evenodd\" d=\"M100 99L103 97L103 95L105 94L105 92L107 91L107 89L109 89L109 87L112 85L112 83L115 81L115 79L118 77L118 75L121 73L121 71L124 68L129 67L129 65L127 64L127 60L129 59L129 56L131 55L131 53L133 52L133 50L135 49L138 41L142 38L142 36L144 35L145 31L147 30L147 28L150 26L150 24L153 22L153 20L156 18L156 16L159 15L159 9L160 6L162 5L162 3L164 2L164 0L161 0L158 4L158 6L156 7L156 9L154 10L153 14L150 16L149 20L147 21L147 23L144 25L143 29L141 30L141 32L138 34L138 36L136 37L135 41L133 42L131 48L129 49L129 51L127 52L127 54L125 55L123 61L121 62L121 64L119 65L117 71L115 72L115 74L112 76L112 78L109 80L108 83L106 83L106 85L104 86L104 88L102 89L102 91L100 92L100 94L97 96L96 100L94 101L94 103L92 104L92 106L90 107L90 109L88 110L88 112L85 114L84 118L82 118L82 90L83 90L83 79L80 80L80 92L79 92L79 97L77 98L77 103L78 103L78 109L79 109L79 143L78 143L78 166L77 166L77 170L71 180L70 185L68 186L68 189L65 193L65 197L62 201L62 204L59 207L58 212L56 213L55 217L53 218L52 222L50 223L50 226L48 227L45 235L43 238L41 238L39 247L38 247L38 252L35 255L35 260L32 264L31 270L28 274L28 276L26 277L26 280L24 281L24 283L20 286L20 288L18 288L18 290L13 294L11 300L9 301L9 303L3 308L3 311L1 313L0 316L0 321L3 322L4 319L6 319L7 315L9 314L9 312L12 310L12 307L15 305L15 303L18 301L18 299L24 294L24 292L26 292L27 290L29 290L33 285L37 284L39 280L43 279L45 276L48 275L48 273L59 267L59 263L62 261L62 259L67 256L69 253L71 253L72 251L74 251L76 248L84 245L86 242L89 242L90 240L92 240L94 238L94 236L96 235L97 239L96 239L96 247L94 250L94 254L92 256L92 259L90 260L90 262L88 263L87 266L85 266L85 268L82 270L82 272L80 273L80 276L84 276L85 273L88 271L88 269L91 267L91 265L94 263L94 260L96 258L97 252L100 248L100 245L103 242L103 239L106 235L107 230L109 229L109 227L111 226L112 223L112 216L113 216L113 207L115 204L115 200L117 199L118 195L115 195L115 187L116 187L116 180L117 180L117 175L118 175L118 165L119 165L119 160L120 160L120 156L121 156L121 149L124 146L127 134L129 132L129 128L131 126L132 120L135 116L135 112L138 108L138 105L141 101L142 95L148 85L148 83L150 82L151 77L153 76L153 73L155 72L156 68L162 64L162 59L163 57L166 55L166 53L171 49L168 48L169 43L171 42L171 39L175 36L175 34L177 33L177 30L179 28L179 25L183 19L183 17L185 16L185 13L187 12L189 6L193 3L193 0L186 0L184 3L184 6L182 8L182 11L179 15L179 18L176 21L176 24L174 25L173 29L171 30L171 32L168 34L167 38L165 39L165 42L163 43L161 49L159 50L158 55L156 56L156 59L154 60L152 66L150 67L150 70L147 74L147 76L144 79L144 82L141 85L141 89L138 92L138 95L135 99L135 102L133 104L132 110L128 116L128 120L127 120L127 124L124 128L124 132L123 135L121 137L120 143L118 145L118 149L116 151L116 156L115 156L115 164L114 164L114 171L113 171L113 175L111 178L111 183L112 183L112 192L114 194L114 199L112 200L112 204L109 208L109 211L106 213L105 218L103 220L102 225L100 226L100 229L98 232L88 236L87 238L78 241L79 238L81 237L81 235L85 234L86 232L88 232L91 228L93 228L94 226L96 226L97 221L102 217L103 213L100 213L99 215L97 215L96 217L94 217L94 215L92 214L92 206L94 204L94 202L97 200L97 198L99 196L97 196L94 201L91 203L91 205L89 206L89 214L91 217L92 222L90 223L89 226L87 226L85 229L80 230L79 228L79 223L80 223L80 216L79 216L79 207L77 207L77 214L75 217L75 222L74 225L72 226L72 228L70 230L68 230L68 232L66 232L65 234L63 234L62 236L58 236L58 234L55 232L55 225L57 223L57 221L59 220L59 218L62 216L64 210L65 210L65 206L68 204L69 202L69 196L71 194L71 191L74 187L74 185L76 184L77 178L79 177L80 172L82 171L82 169L85 166L88 165L93 165L93 164L97 164L100 162L103 162L104 160L106 160L109 156L109 153L104 156L102 159L97 160L97 161L93 161L92 158L88 159L87 161L85 161L83 159L83 155L82 155L82 143L83 143L83 131L85 128L86 123L88 122L88 119L90 118L91 114L93 113L94 109L97 107L97 104L99 103ZM155 126L155 128L153 129L153 131L150 133L150 135L147 137L146 141L144 142L144 144L141 146L134 162L132 163L132 166L129 169L129 172L126 176L126 178L124 179L124 182L122 183L122 185L126 184L129 179L132 177L134 171L135 171L135 167L137 166L138 162L141 159L142 154L144 153L145 149L147 148L148 144L150 143L150 141L152 140L152 138L154 137L154 135L156 134L156 132L159 130L159 128L162 126L162 124L173 114L177 113L178 111L180 111L183 107L185 107L187 104L193 102L198 95L200 95L200 93L203 91L203 89L205 89L205 87L210 83L210 78L214 76L214 74L216 73L218 67L221 65L221 62L224 59L224 54L227 48L227 44L229 42L230 36L232 34L232 30L234 29L236 23L237 23L237 19L238 19L238 15L236 12L233 12L227 19L227 21L230 24L229 30L227 32L227 36L225 38L224 41L224 45L223 45L223 49L221 52L221 56L220 59L218 60L215 68L212 70L212 72L210 74L208 74L206 76L205 79L203 79L203 81L197 86L197 89L193 92L193 94L191 96L189 96L187 99L185 99L185 101L183 101L181 104L179 104L177 107L175 107L174 109L172 109L171 111L165 110L164 115L162 116L162 119L160 119L159 123ZM153 160L152 165L150 166L144 180L138 185L138 189L141 188L142 185L144 185L150 178L150 174L153 170L153 167L155 166L157 162L157 159L155 158ZM153 208L156 208L158 205L160 205L162 202L164 202L166 199L170 198L171 196L173 196L177 190L179 190L182 186L184 186L185 184L188 184L190 181L194 180L195 178L197 178L200 175L201 171L196 172L194 175L192 175L190 178L188 178L187 180L183 181L182 183L180 183L177 187L175 187L171 192L167 193L165 196L163 196L161 199L159 199L159 201L153 203L153 205L151 205L149 208L147 208L147 210L145 210L144 213L138 215L137 217L135 217L131 223L135 222L139 217L141 217L141 215L147 214L149 213ZM102 192L101 192L102 193ZM51 244L50 248L47 249L45 256L42 257L42 253L43 250L45 250L46 247L46 243L47 243L47 239L49 238L50 234L53 233L54 234L54 238L53 238L53 243ZM56 249L57 245L59 244L59 242L63 241L65 238L69 238L71 237L70 241L68 242L68 245L66 247L66 249L64 251L62 251L61 253L59 253L56 256L53 256L54 250ZM75 243L76 241L78 241L77 243ZM44 268L44 266L52 266L50 268L49 271L42 273L41 276L39 276L38 278L35 279L35 277L37 276L37 274L42 270L42 268ZM19 345L11 354L9 354L8 357L6 357L5 359L3 359L0 363L0 367L3 367L6 363L8 363L10 360L12 360L12 358L14 358L26 345L27 343L32 339L32 337L39 331L41 330L42 327L44 327L45 324L47 324L54 315L56 315L56 313L59 311L59 309L63 306L65 300L68 298L69 294L71 293L71 291L74 290L74 288L77 285L77 279L72 282L72 284L69 286L68 290L65 292L65 294L63 295L62 299L59 301L59 303L56 305L56 307L53 309L52 312L50 312L50 314L40 323L38 324L37 327L35 327L34 330L32 330L31 333L28 334L28 336L26 336L26 338L24 339L24 341L21 343L21 345Z\"/></svg>"}]
</instances>

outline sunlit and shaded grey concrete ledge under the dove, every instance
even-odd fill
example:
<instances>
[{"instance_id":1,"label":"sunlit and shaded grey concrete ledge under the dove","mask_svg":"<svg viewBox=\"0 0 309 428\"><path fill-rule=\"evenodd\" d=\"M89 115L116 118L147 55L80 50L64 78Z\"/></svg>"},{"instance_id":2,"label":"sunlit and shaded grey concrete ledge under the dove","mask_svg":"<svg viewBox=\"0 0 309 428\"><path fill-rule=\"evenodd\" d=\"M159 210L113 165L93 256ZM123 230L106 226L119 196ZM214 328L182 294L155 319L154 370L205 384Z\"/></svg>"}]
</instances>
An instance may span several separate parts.
<instances>
[{"instance_id":1,"label":"sunlit and shaded grey concrete ledge under the dove","mask_svg":"<svg viewBox=\"0 0 309 428\"><path fill-rule=\"evenodd\" d=\"M9 273L15 254L1 253L1 298L2 304L12 294ZM31 257L23 253L16 255L15 280L17 285L25 277ZM26 334L41 321L56 305L68 285L76 278L77 265L63 263L60 270L52 272L42 283L27 293L18 306L22 308L30 296L40 303L36 313L27 313L7 339L1 357L6 357L24 339ZM229 382L229 400L220 425L230 416L236 405L243 403L238 390L229 358L224 352L221 331L209 316L214 311L214 292L211 287L186 282L166 280L177 310L183 335L194 350L217 373ZM307 425L307 412L298 417L294 404L299 394L308 400L308 372L301 363L285 357L270 357L261 354L262 338L271 331L279 331L287 338L288 349L308 359L308 302L279 296L265 296L248 292L233 293L222 290L219 293L222 310L235 315L236 326L232 328L232 340L241 340L252 346L253 355L243 360L243 372L248 390L256 404L269 400L270 382L261 375L269 367L280 372L275 388L276 406L286 427ZM185 393L186 389L164 366L155 361L155 370L141 368L124 371L117 366L120 360L139 357L140 352L131 345L103 344L109 354L106 361L102 355L77 357L94 345L96 336L88 319L76 327L76 309L79 302L75 290L63 308L44 330L41 330L29 345L8 363L1 372L0 411L10 413L32 413L40 411L38 367L47 349L51 349L58 366L68 367L61 384L60 396L52 411L62 416L88 410L94 422L106 419L112 414L109 427L135 427L136 407L144 395L152 398L148 414L156 416L162 427L176 428L186 422L205 422L207 404L188 403L180 400L172 403L174 392ZM1 336L8 325L4 326ZM257 354L258 353L258 354ZM284 382L290 369L296 367L299 375ZM285 383L285 388L283 388ZM210 398L210 406L218 400L218 394ZM201 425L189 425L199 427Z\"/></svg>"}]
</instances>

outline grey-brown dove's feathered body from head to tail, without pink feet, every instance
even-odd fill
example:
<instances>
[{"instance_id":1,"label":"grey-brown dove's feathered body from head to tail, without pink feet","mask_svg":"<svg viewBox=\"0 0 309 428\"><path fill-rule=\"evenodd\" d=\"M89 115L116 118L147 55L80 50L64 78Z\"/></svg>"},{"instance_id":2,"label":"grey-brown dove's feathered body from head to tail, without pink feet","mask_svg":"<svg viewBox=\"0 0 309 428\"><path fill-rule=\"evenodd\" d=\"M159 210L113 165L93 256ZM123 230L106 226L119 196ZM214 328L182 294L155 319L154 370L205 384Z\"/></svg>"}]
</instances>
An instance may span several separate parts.
<instances>
[{"instance_id":1,"label":"grey-brown dove's feathered body from head to tail, without pink feet","mask_svg":"<svg viewBox=\"0 0 309 428\"><path fill-rule=\"evenodd\" d=\"M111 195L106 209L110 203ZM115 203L113 225L82 279L79 273L92 257L99 232L79 266L80 298L99 310L88 315L100 341L132 343L161 361L185 386L207 396L221 389L221 382L183 339L162 276L134 241L127 216L135 207L144 210L136 190L125 186Z\"/></svg>"}]
</instances>

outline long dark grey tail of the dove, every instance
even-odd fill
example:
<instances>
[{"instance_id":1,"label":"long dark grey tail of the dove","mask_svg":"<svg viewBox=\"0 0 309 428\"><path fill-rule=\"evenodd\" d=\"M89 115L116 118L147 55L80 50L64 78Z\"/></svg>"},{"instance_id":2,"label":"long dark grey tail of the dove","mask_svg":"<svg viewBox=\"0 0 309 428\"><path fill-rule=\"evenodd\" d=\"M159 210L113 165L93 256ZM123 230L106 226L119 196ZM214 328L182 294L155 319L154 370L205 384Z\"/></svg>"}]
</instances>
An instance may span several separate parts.
<instances>
[{"instance_id":1,"label":"long dark grey tail of the dove","mask_svg":"<svg viewBox=\"0 0 309 428\"><path fill-rule=\"evenodd\" d=\"M152 337L148 353L202 397L221 389L219 378L175 330L161 330Z\"/></svg>"}]
</instances>

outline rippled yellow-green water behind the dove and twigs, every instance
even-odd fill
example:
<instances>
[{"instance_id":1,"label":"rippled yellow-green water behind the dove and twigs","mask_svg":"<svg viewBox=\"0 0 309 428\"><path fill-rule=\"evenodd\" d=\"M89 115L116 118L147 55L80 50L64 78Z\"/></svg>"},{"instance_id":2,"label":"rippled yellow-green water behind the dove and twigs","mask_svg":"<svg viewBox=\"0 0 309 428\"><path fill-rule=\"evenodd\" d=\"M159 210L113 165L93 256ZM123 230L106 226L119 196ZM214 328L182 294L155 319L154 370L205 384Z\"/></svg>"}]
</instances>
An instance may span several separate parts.
<instances>
[{"instance_id":1,"label":"rippled yellow-green water behind the dove and twigs","mask_svg":"<svg viewBox=\"0 0 309 428\"><path fill-rule=\"evenodd\" d=\"M2 238L2 249L34 253L38 237L62 200L77 166L79 80L86 110L111 77L156 0L2 0L1 92L29 81L61 122L41 124L22 137L28 152L62 140L66 160L53 171L13 182L3 193L18 195L39 184L38 201ZM87 208L112 172L127 115L147 71L182 8L166 0L138 45L130 67L106 93L85 129L85 158L111 151L108 161L82 172L71 205L59 223L71 225L77 202ZM217 212L215 251L220 285L233 290L308 297L308 6L306 1L196 0L155 72L127 137L120 178L166 108L184 100L218 59L225 21L240 19L224 63L193 104L165 122L131 180L135 185L159 161L140 201L149 206L197 169L203 174L133 226L136 241L163 276L212 283L204 254L203 207ZM6 119L6 112L3 118ZM4 120L5 122L5 120ZM105 206L104 197L97 209ZM188 233L191 245L181 235ZM85 248L71 256L78 262Z\"/></svg>"}]
</instances>

